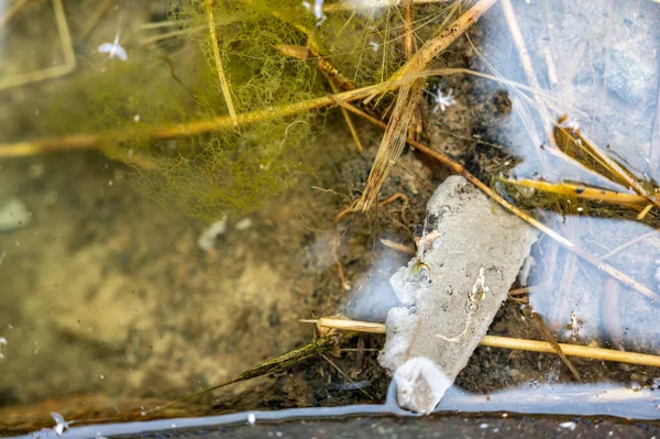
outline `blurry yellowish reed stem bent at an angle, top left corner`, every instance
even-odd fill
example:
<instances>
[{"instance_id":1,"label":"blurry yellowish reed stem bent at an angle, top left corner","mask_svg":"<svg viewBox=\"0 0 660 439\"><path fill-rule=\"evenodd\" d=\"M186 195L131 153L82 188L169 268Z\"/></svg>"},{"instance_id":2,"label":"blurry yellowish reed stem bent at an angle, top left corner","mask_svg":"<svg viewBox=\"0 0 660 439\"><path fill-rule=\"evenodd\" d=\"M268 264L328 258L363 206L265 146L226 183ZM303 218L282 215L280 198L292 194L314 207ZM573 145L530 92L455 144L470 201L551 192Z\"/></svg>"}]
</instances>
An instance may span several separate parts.
<instances>
[{"instance_id":1,"label":"blurry yellowish reed stem bent at an angle, top left corner","mask_svg":"<svg viewBox=\"0 0 660 439\"><path fill-rule=\"evenodd\" d=\"M0 90L13 87L24 86L26 84L38 83L46 79L58 78L76 69L76 55L74 54L74 44L72 42L72 35L69 33L68 24L66 22L66 15L64 8L62 7L62 0L53 0L53 10L55 12L55 24L57 26L57 33L62 42L62 51L64 53L64 64L53 67L47 67L36 72L30 72L25 74L12 75L4 78L0 78ZM7 17L3 15L3 18ZM1 26L0 26L1 29Z\"/></svg>"}]
</instances>

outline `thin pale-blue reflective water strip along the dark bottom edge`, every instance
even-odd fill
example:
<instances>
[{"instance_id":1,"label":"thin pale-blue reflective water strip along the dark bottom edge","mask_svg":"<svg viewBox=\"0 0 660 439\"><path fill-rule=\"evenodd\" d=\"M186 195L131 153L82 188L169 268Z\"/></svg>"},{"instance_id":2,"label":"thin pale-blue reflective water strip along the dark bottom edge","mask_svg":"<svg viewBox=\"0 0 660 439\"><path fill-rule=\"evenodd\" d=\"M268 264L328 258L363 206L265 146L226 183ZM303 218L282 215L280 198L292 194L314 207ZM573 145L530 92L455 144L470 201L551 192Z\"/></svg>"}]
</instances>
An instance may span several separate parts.
<instances>
[{"instance_id":1,"label":"thin pale-blue reflective water strip along the dark bottom edge","mask_svg":"<svg viewBox=\"0 0 660 439\"><path fill-rule=\"evenodd\" d=\"M530 415L575 415L585 417L619 417L626 419L654 420L659 397L653 389L622 388L616 385L550 385L529 389L496 392L491 395L470 395L458 388L448 391L438 406L439 414L490 414L513 411ZM288 408L283 410L253 410L221 416L200 418L170 418L152 421L132 421L122 424L75 426L66 430L70 438L107 437L118 435L165 433L176 429L199 429L205 427L222 428L255 424L274 424L293 420L348 419L366 416L389 416L416 418L420 415L402 409L396 404L395 384L391 385L387 399L383 405L364 404L338 407ZM505 416L506 417L506 416ZM52 429L42 429L24 438L57 437Z\"/></svg>"}]
</instances>

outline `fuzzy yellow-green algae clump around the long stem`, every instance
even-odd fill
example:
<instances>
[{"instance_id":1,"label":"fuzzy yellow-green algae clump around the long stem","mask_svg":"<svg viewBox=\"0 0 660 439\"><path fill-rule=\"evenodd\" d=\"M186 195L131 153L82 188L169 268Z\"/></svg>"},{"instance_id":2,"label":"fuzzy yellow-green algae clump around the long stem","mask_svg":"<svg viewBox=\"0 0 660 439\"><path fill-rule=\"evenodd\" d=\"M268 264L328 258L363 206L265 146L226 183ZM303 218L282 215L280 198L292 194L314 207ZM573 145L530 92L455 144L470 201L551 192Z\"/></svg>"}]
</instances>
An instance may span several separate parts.
<instances>
[{"instance_id":1,"label":"fuzzy yellow-green algae clump around the long stem","mask_svg":"<svg viewBox=\"0 0 660 439\"><path fill-rule=\"evenodd\" d=\"M403 65L402 11L361 14L343 3L318 14L298 0L170 1L183 31L175 44L129 48L129 59L106 59L76 77L54 99L50 132L108 133L103 151L129 164L130 182L168 208L205 219L258 209L309 171L305 156L321 135L323 113L301 111L231 129L154 139L153 127L229 118L212 45L218 44L237 113L278 108L330 92L318 69L322 56L353 87L386 79ZM217 41L209 32L212 8ZM438 18L441 7L424 17ZM416 28L424 41L435 26ZM425 35L427 33L428 35ZM309 58L283 46L314 46ZM340 84L340 87L342 85ZM384 100L386 102L386 100ZM134 131L117 140L118 130Z\"/></svg>"}]
</instances>

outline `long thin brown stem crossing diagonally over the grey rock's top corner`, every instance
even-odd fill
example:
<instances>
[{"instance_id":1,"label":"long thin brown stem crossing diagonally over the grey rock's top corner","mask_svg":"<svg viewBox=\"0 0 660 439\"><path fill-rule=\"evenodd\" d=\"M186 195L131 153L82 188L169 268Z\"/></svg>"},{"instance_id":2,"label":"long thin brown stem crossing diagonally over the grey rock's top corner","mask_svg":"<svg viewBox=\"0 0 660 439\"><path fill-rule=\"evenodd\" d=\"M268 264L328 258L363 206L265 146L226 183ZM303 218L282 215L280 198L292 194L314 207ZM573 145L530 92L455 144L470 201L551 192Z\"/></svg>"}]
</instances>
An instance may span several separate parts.
<instances>
[{"instance_id":1,"label":"long thin brown stem crossing diagonally over the grey rock's top corner","mask_svg":"<svg viewBox=\"0 0 660 439\"><path fill-rule=\"evenodd\" d=\"M383 123L382 121L380 121L380 120L377 120L377 119L375 119L375 118L373 118L373 117L364 113L363 111L361 111L360 109L355 108L354 106L349 105L346 102L342 102L340 100L337 100L337 101L340 105L344 106L348 110L353 111L354 113L356 113L359 116L362 116L363 118L365 118L370 122L372 122L372 123L374 123L374 124L376 124L376 125L378 125L381 128L385 128L386 127L385 123ZM601 261L600 259L597 259L597 257L588 254L584 250L575 246L575 244L573 244L571 241L569 241L568 239L565 239L564 237L562 237L561 234L559 234L554 230L548 228L542 222L540 222L537 219L535 219L535 218L530 217L529 215L525 213L524 211L521 211L520 209L518 209L516 206L512 205L510 202L508 202L507 200L505 200L504 198L502 198L498 194L494 193L486 184L484 184L479 178L476 178L475 176L473 176L461 164L454 162L453 160L451 160L447 155L441 154L441 153L439 153L439 152L437 152L435 150L431 150L430 147L426 146L425 144L422 144L420 142L417 142L417 141L413 140L413 139L408 139L408 143L411 146L415 146L421 153L426 154L427 156L429 156L431 158L435 158L438 162L440 162L440 163L449 166L449 168L452 169L454 173L461 174L463 177L465 177L465 179L468 179L473 185L475 185L481 190L483 190L487 196L490 196L495 201L497 201L502 207L504 207L505 209L507 209L512 213L516 215L518 218L527 221L529 224L534 226L535 228L537 228L541 232L546 233L548 237L550 237L553 240L556 240L557 242L559 242L563 248L565 248L566 250L575 253L578 256L582 257L584 261L586 261L590 264L594 265L600 271L607 273L609 276L612 276L615 279L619 281L622 284L627 285L627 286L636 289L637 292L639 292L644 296L648 297L652 301L660 301L660 296L657 293L654 293L653 290L651 290L649 287L647 287L646 285L640 284L639 282L635 281L634 278L629 277L628 275L619 272L618 270L616 270L612 265L609 265L609 264Z\"/></svg>"}]
</instances>

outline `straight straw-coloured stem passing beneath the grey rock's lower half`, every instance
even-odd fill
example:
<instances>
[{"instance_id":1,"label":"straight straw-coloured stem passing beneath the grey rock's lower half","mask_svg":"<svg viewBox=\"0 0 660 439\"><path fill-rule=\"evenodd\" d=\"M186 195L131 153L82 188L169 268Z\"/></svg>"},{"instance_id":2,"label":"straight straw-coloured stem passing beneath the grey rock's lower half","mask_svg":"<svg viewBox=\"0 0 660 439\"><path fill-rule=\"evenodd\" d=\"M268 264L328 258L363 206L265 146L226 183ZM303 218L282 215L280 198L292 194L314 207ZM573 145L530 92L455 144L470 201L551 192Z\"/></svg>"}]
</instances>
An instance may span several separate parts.
<instances>
[{"instance_id":1,"label":"straight straw-coloured stem passing beneath the grey rock's lower half","mask_svg":"<svg viewBox=\"0 0 660 439\"><path fill-rule=\"evenodd\" d=\"M345 331L359 331L369 333L387 333L385 323L376 323L371 321L344 320L321 317L318 320L299 320L301 322L314 322L323 328L334 328ZM519 351L557 353L547 341L516 339L501 336L484 336L480 341L480 345L513 349ZM660 356L647 353L623 352L612 349L590 348L579 344L559 343L562 352L569 356L581 356L584 359L598 361L615 361L618 363L640 364L660 367Z\"/></svg>"}]
</instances>

